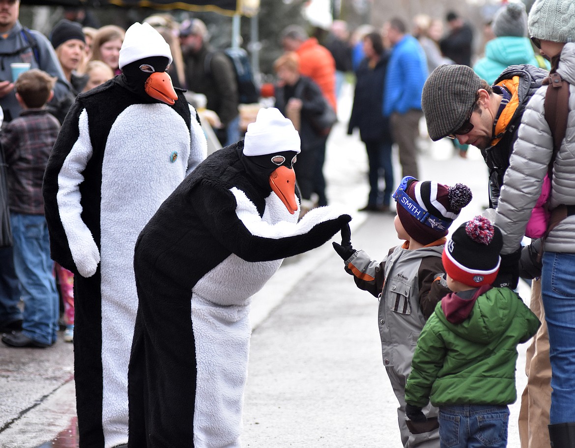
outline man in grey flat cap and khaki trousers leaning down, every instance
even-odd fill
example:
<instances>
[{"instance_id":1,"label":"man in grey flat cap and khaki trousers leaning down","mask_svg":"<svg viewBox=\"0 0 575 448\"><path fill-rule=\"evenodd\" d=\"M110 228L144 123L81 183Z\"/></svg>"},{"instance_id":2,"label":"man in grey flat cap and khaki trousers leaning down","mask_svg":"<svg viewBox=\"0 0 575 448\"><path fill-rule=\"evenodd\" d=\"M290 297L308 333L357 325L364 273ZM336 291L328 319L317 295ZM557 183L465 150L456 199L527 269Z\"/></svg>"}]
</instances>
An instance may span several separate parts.
<instances>
[{"instance_id":1,"label":"man in grey flat cap and khaki trousers leaning down","mask_svg":"<svg viewBox=\"0 0 575 448\"><path fill-rule=\"evenodd\" d=\"M504 185L509 155L522 127L523 113L547 75L546 70L530 65L510 66L490 86L470 67L443 65L432 71L425 81L421 108L431 139L450 137L481 150L489 170L489 204L493 209ZM519 257L519 251L506 254L501 257L501 263L516 266ZM517 281L517 277L504 268L500 269L493 286L515 289ZM549 423L551 368L538 280L532 282L530 308L543 324L528 349L520 436L523 448L543 448L549 446L546 425Z\"/></svg>"}]
</instances>

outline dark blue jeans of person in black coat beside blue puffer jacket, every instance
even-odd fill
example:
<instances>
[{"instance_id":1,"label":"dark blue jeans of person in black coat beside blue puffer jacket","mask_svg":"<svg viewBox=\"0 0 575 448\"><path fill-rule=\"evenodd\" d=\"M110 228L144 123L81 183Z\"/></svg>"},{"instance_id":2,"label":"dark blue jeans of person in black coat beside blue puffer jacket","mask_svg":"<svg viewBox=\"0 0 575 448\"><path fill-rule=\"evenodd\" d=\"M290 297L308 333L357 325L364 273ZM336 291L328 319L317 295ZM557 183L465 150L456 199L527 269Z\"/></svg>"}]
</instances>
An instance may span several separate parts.
<instances>
[{"instance_id":1,"label":"dark blue jeans of person in black coat beside blue puffer jacket","mask_svg":"<svg viewBox=\"0 0 575 448\"><path fill-rule=\"evenodd\" d=\"M392 143L390 141L365 141L369 162L369 197L367 205L389 205L393 192ZM379 179L383 177L385 189L381 192Z\"/></svg>"}]
</instances>

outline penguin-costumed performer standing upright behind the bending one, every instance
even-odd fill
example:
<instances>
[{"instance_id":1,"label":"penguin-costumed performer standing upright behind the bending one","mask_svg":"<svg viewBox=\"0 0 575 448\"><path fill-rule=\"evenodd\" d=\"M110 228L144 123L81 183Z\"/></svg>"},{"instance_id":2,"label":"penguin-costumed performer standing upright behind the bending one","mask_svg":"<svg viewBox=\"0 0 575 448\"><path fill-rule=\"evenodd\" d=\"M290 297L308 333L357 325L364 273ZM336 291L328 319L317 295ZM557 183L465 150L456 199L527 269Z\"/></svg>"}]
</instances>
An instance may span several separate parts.
<instances>
[{"instance_id":1,"label":"penguin-costumed performer standing upright behind the bending one","mask_svg":"<svg viewBox=\"0 0 575 448\"><path fill-rule=\"evenodd\" d=\"M166 73L148 24L120 49L122 74L76 99L44 175L52 258L75 274L79 446L128 442L128 362L137 311L136 238L206 156L196 111Z\"/></svg>"}]
</instances>

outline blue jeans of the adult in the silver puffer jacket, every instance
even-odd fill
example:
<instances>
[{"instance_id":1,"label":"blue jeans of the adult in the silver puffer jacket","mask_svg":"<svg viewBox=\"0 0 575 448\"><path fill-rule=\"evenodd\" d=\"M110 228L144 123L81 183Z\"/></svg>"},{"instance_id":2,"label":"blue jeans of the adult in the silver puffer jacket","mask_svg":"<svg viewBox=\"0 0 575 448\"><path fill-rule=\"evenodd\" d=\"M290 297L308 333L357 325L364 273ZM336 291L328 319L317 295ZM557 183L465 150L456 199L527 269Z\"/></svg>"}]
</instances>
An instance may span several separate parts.
<instances>
[{"instance_id":1,"label":"blue jeans of the adult in the silver puffer jacket","mask_svg":"<svg viewBox=\"0 0 575 448\"><path fill-rule=\"evenodd\" d=\"M550 423L575 422L575 254L545 252L541 292L551 360Z\"/></svg>"}]
</instances>

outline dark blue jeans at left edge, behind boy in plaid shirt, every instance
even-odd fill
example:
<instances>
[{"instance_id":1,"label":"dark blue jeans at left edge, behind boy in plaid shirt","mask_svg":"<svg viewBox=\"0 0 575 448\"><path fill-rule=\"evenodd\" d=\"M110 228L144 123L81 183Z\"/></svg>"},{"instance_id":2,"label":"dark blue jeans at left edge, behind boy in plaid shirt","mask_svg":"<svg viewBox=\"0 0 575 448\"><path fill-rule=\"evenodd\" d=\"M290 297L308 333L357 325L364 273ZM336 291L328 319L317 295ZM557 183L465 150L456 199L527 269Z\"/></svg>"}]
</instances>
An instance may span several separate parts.
<instances>
[{"instance_id":1,"label":"dark blue jeans at left edge, behind boy in plaid shirt","mask_svg":"<svg viewBox=\"0 0 575 448\"><path fill-rule=\"evenodd\" d=\"M20 283L14 270L14 249L0 248L0 327L22 319Z\"/></svg>"}]
</instances>

